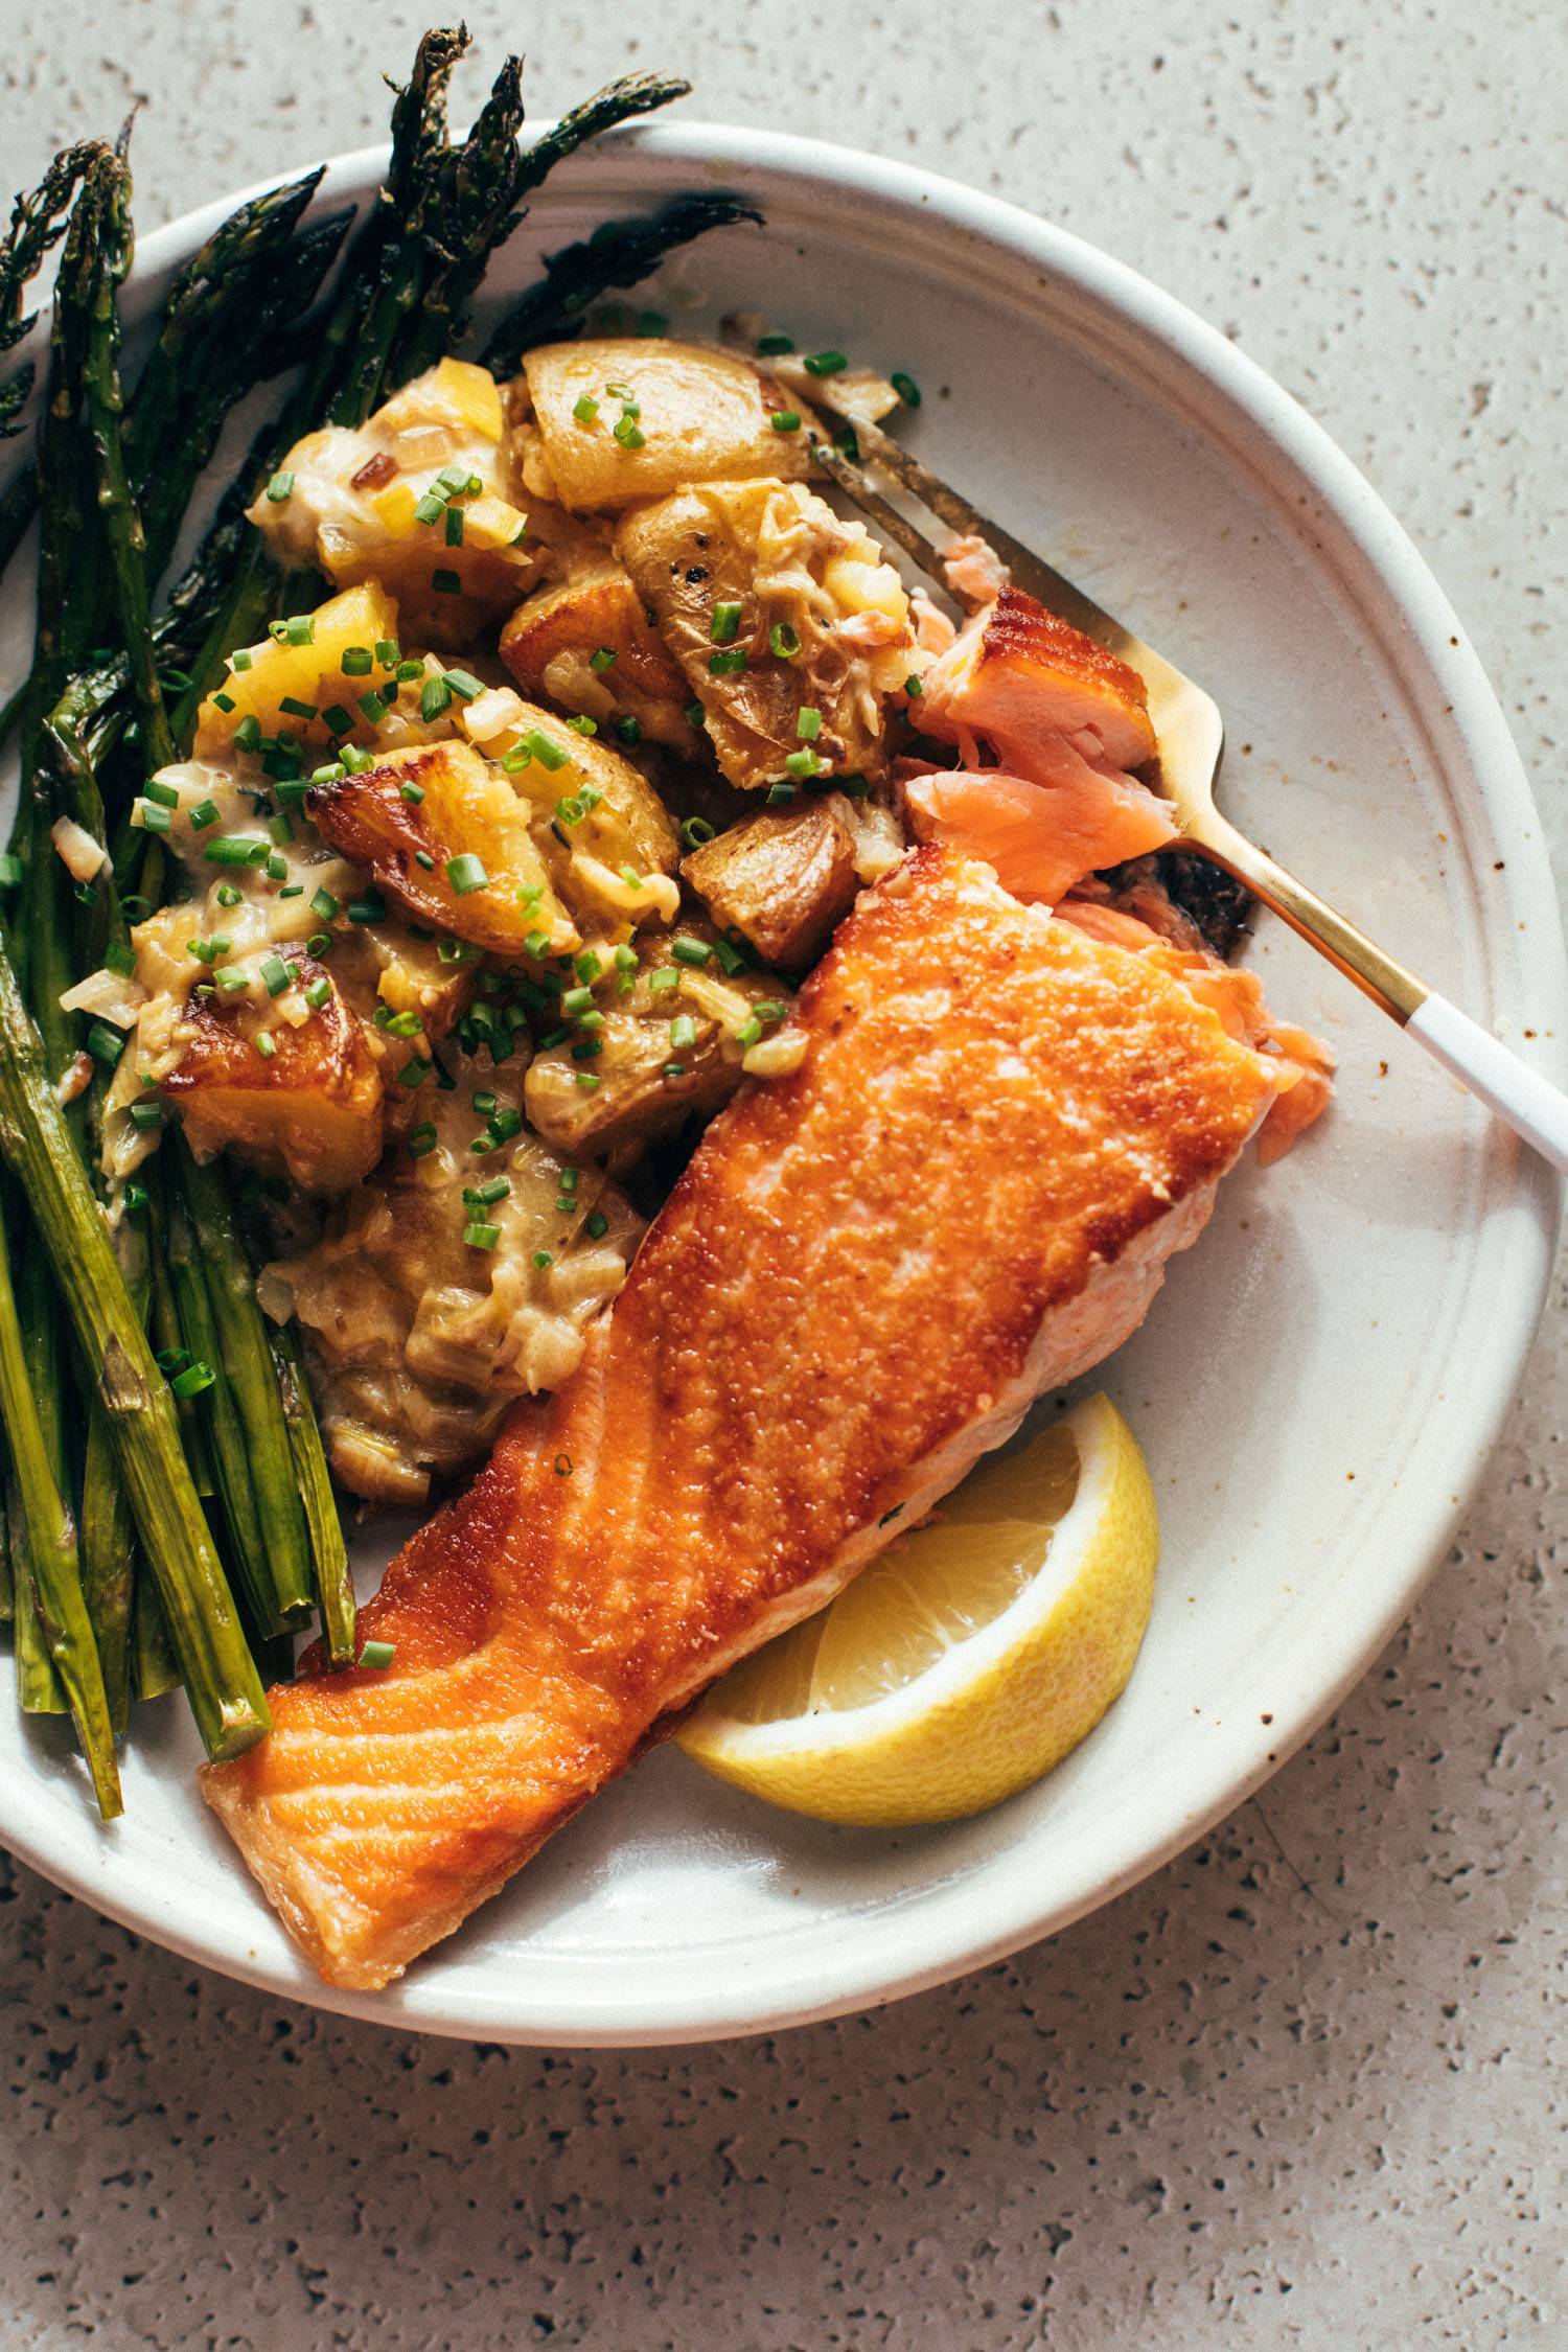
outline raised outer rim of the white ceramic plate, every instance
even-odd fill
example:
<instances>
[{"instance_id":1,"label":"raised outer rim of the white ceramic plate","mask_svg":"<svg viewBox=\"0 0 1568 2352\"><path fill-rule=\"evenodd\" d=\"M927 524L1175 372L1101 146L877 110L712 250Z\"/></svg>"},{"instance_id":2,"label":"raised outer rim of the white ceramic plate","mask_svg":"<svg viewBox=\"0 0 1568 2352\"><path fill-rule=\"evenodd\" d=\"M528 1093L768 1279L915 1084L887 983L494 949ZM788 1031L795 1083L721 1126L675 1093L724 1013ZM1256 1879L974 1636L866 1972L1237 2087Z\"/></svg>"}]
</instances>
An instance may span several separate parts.
<instances>
[{"instance_id":1,"label":"raised outer rim of the white ceramic plate","mask_svg":"<svg viewBox=\"0 0 1568 2352\"><path fill-rule=\"evenodd\" d=\"M529 136L538 139L548 129L548 122L534 122ZM329 158L315 202L324 205L350 193L367 195L378 179L386 153L386 143L374 143ZM1131 329L1133 341L1145 353L1152 348L1164 362L1173 362L1178 374L1201 379L1220 405L1220 416L1206 419L1213 440L1220 440L1213 426L1222 419L1227 428L1239 433L1241 442L1251 437L1272 466L1284 459L1288 470L1312 487L1333 536L1340 541L1338 550L1321 550L1321 564L1347 588L1354 583L1342 557L1354 555L1363 567L1375 590L1368 619L1382 623L1380 635L1392 668L1403 677L1410 663L1408 649L1399 652L1387 637L1387 623L1396 621L1406 644L1415 642L1418 666L1425 666L1432 677L1443 673L1455 739L1476 783L1479 814L1507 840L1500 898L1514 922L1523 927L1514 936L1512 964L1500 964L1495 960L1500 917L1486 906L1481 908L1479 934L1486 948L1488 993L1500 988L1507 993L1512 976L1521 985L1528 983L1535 1025L1542 1033L1547 1028L1554 1033L1537 1040L1533 1058L1559 1080L1568 1075L1568 964L1561 910L1540 818L1505 713L1425 557L1359 468L1293 395L1274 383L1248 353L1128 263L1020 205L969 188L945 174L792 132L682 120L679 125L632 125L614 132L590 155L564 167L562 186L581 181L595 162L614 162L614 158L625 155L654 158L654 174L665 165L677 165L701 169L712 179L722 176L741 188L748 179L783 179L797 191L863 191L879 202L893 202L910 221L924 214L945 233L969 233L978 245L1001 249L1009 261L1023 259L1034 266L1041 275L1039 294L1046 308L1056 287L1070 287L1091 313L1100 313L1107 329L1119 322ZM292 172L268 174L141 238L134 280L150 278L183 259L244 195L280 186L292 176ZM548 205L550 191L545 188L534 200L534 214L543 214ZM1229 454L1246 461L1244 447L1229 445ZM1413 708L1420 708L1415 696ZM1474 873L1467 847L1462 863L1467 873ZM1502 1268L1493 1270L1486 1348L1476 1350L1462 1388L1450 1383L1450 1395L1443 1399L1446 1418L1458 1418L1460 1425L1462 1461L1458 1475L1443 1482L1441 1496L1403 1498L1403 1541L1392 1545L1401 1562L1399 1573L1389 1573L1385 1562L1375 1606L1368 1606L1359 1618L1359 1632L1354 1642L1342 1644L1333 1670L1312 1682L1312 1696L1302 1700L1300 1689L1293 1689L1267 1729L1258 1722L1229 1726L1208 1752L1208 1771L1192 1771L1182 1778L1182 1802L1178 1809L1166 1809L1171 1818L1164 1820L1159 1835L1124 1837L1105 1867L1091 1872L1093 1884L1081 1875L1074 1889L1058 1891L1046 1900L1039 1891L1020 1884L1018 1872L1009 1875L1006 1856L999 1853L978 1870L961 1872L947 1886L914 1896L900 1907L896 1957L886 1955L870 1966L860 1964L844 1973L839 1955L837 1978L832 1950L823 1959L818 1947L813 1964L797 1964L792 1976L785 1971L785 1980L766 1990L750 1971L741 1969L726 1997L715 1999L710 1992L701 2006L679 2009L679 2004L661 1999L637 2002L635 1987L630 1987L616 2013L604 2016L581 1994L541 1999L534 1987L527 2016L520 2016L515 2004L508 2013L505 1980L498 1997L458 1992L454 1985L442 1985L440 1962L425 1964L411 1980L402 1978L388 1992L355 1994L320 1983L289 1945L273 1947L270 1955L259 1950L244 1926L202 1936L193 1929L188 1898L186 1903L179 1898L179 1879L160 1877L155 1860L141 1858L129 1889L115 1889L115 1870L120 1867L125 1875L115 1858L115 1837L113 1832L103 1835L96 1823L87 1823L89 1844L68 1839L61 1849L47 1835L52 1823L40 1823L38 1835L31 1835L26 1823L0 1818L2 1842L42 1877L186 1959L273 1997L296 1999L393 2032L505 2044L677 2046L776 2032L877 2009L990 1966L1114 1900L1279 1771L1359 1682L1441 1559L1514 1404L1549 1294L1561 1214L1561 1185L1512 1138L1493 1129L1476 1138L1469 1160L1488 1204L1509 1214L1502 1218L1507 1232L1497 1244ZM1505 1317L1507 1329L1500 1329ZM78 1802L75 1783L71 1799ZM0 1797L2 1813L5 1797ZM1077 1832L1070 1849L1081 1842L1084 1832ZM71 1851L73 1846L75 1851ZM240 1867L237 1860L235 1867ZM263 1898L254 1886L247 1886L247 1893L261 1905ZM954 1905L964 1919L957 1936L950 1919ZM917 1917L924 1917L924 1931L917 1931ZM270 1919L266 1924L275 1926Z\"/></svg>"}]
</instances>

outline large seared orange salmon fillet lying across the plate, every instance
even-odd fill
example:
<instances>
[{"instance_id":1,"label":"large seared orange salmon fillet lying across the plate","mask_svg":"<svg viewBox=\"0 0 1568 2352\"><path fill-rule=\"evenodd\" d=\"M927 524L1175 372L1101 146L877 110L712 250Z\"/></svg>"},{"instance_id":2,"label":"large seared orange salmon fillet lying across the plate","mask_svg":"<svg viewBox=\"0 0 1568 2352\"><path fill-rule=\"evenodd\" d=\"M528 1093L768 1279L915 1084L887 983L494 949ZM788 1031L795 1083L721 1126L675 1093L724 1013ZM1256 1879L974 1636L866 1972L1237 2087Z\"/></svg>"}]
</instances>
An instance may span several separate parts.
<instances>
[{"instance_id":1,"label":"large seared orange salmon fillet lying across the plate","mask_svg":"<svg viewBox=\"0 0 1568 2352\"><path fill-rule=\"evenodd\" d=\"M708 1129L583 1362L207 1802L315 1966L451 1933L724 1668L1117 1348L1274 1094L1175 974L919 849Z\"/></svg>"}]
</instances>

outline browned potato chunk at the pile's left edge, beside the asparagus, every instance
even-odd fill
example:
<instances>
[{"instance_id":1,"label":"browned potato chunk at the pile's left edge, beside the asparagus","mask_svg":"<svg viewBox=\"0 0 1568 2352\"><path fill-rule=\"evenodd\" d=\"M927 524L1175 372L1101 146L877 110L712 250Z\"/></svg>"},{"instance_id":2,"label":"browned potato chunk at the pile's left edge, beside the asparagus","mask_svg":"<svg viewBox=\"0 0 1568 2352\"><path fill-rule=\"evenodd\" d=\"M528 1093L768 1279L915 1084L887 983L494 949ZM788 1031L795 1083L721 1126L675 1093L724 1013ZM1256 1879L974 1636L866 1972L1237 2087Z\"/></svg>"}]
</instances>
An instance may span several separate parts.
<instances>
[{"instance_id":1,"label":"browned potato chunk at the pile's left edge, beside the asparagus","mask_svg":"<svg viewBox=\"0 0 1568 2352\"><path fill-rule=\"evenodd\" d=\"M383 1143L386 1094L364 1030L308 955L226 969L247 985L233 997L190 995L174 1033L179 1061L160 1080L190 1150L212 1160L233 1145L306 1192L346 1190ZM273 990L280 969L287 981Z\"/></svg>"}]
</instances>

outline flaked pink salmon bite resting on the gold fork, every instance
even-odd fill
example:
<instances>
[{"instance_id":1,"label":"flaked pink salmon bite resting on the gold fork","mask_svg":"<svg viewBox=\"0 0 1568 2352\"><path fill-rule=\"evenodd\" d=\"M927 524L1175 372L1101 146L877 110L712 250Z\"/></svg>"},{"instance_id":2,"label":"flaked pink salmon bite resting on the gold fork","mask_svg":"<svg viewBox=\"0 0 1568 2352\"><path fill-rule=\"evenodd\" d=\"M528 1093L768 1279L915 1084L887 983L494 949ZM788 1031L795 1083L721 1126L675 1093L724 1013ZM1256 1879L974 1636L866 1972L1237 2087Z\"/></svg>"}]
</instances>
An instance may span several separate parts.
<instances>
[{"instance_id":1,"label":"flaked pink salmon bite resting on the gold fork","mask_svg":"<svg viewBox=\"0 0 1568 2352\"><path fill-rule=\"evenodd\" d=\"M1166 804L1128 774L1157 750L1143 680L1020 588L1001 588L926 670L919 724L957 743L964 767L907 781L914 830L985 858L1020 896L1053 906L1084 875L1175 840Z\"/></svg>"}]
</instances>

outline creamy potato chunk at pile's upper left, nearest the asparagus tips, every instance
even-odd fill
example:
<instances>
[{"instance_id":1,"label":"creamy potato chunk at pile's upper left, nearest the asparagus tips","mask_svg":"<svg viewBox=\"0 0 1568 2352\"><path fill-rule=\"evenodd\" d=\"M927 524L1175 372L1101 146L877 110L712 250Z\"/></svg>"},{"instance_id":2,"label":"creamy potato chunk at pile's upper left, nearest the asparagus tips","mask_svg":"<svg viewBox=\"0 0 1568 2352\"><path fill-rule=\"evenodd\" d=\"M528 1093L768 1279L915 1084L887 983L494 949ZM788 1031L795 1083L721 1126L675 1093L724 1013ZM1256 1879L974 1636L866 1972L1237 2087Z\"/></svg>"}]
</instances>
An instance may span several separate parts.
<instances>
[{"instance_id":1,"label":"creamy potato chunk at pile's upper left, nearest the asparagus tips","mask_svg":"<svg viewBox=\"0 0 1568 2352\"><path fill-rule=\"evenodd\" d=\"M299 440L249 520L339 586L386 581L423 644L470 644L534 576L517 494L494 376L442 360L355 430Z\"/></svg>"}]
</instances>

